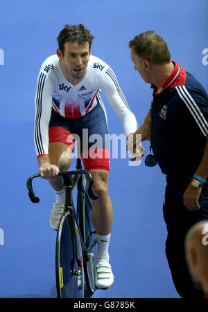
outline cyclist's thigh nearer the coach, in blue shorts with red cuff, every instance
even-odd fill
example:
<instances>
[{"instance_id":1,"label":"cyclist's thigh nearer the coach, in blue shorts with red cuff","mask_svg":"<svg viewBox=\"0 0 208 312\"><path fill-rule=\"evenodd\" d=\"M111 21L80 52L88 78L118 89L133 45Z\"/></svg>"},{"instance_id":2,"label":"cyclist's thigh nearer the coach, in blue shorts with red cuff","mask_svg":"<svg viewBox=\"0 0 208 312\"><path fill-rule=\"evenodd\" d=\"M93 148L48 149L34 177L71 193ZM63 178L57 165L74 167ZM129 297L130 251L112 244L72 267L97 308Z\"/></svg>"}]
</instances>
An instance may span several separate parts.
<instances>
[{"instance_id":1,"label":"cyclist's thigh nearer the coach, in blue shorts with red cuff","mask_svg":"<svg viewBox=\"0 0 208 312\"><path fill-rule=\"evenodd\" d=\"M110 142L105 112L100 104L83 117L81 156L87 171L110 169Z\"/></svg>"}]
</instances>

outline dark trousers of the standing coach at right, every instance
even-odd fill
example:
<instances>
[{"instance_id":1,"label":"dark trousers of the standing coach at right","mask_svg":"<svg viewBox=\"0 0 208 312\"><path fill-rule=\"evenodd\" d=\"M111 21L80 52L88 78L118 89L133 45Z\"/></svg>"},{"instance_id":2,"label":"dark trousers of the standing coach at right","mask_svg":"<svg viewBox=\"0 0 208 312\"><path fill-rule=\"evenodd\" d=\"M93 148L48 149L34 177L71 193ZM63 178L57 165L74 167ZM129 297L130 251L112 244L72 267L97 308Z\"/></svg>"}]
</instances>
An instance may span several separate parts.
<instances>
[{"instance_id":1,"label":"dark trousers of the standing coach at right","mask_svg":"<svg viewBox=\"0 0 208 312\"><path fill-rule=\"evenodd\" d=\"M167 178L163 205L167 228L166 257L173 283L180 297L200 298L202 291L196 290L189 275L184 252L184 238L194 223L208 219L208 183L202 187L200 210L189 211L183 204L183 194L187 184Z\"/></svg>"}]
</instances>

